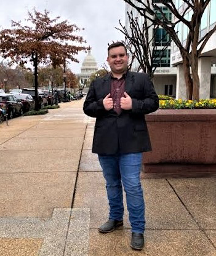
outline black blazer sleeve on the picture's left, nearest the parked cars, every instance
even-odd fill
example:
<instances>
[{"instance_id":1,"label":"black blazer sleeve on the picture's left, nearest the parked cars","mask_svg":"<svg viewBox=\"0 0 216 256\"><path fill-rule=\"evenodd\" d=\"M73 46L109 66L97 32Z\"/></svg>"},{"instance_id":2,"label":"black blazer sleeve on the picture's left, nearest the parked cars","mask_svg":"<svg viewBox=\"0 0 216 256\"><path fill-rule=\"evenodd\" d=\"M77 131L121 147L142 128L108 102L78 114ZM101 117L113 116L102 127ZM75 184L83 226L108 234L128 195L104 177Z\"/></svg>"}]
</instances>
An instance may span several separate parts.
<instances>
[{"instance_id":1,"label":"black blazer sleeve on the picture's left, nearest the parked cars","mask_svg":"<svg viewBox=\"0 0 216 256\"><path fill-rule=\"evenodd\" d=\"M83 111L87 116L91 116L92 118L98 118L105 114L106 110L103 106L103 98L96 99L94 81L90 84L89 92L83 105Z\"/></svg>"}]
</instances>

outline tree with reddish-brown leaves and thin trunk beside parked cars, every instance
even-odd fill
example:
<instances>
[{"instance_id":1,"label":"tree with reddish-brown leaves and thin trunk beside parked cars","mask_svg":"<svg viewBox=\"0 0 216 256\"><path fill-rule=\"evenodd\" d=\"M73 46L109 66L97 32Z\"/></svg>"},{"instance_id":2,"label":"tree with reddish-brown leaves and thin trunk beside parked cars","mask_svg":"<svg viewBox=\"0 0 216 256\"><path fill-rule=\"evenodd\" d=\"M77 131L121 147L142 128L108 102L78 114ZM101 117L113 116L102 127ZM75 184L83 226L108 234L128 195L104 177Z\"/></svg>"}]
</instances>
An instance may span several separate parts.
<instances>
[{"instance_id":1,"label":"tree with reddish-brown leaves and thin trunk beside parked cars","mask_svg":"<svg viewBox=\"0 0 216 256\"><path fill-rule=\"evenodd\" d=\"M35 110L39 109L38 66L53 65L56 67L62 65L65 60L78 62L74 55L87 49L81 46L86 41L82 36L76 35L81 28L69 24L67 20L58 22L59 18L51 19L49 11L44 10L44 13L41 13L34 9L33 13L28 12L27 22L31 23L31 26L12 21L12 29L0 32L1 56L10 58L12 63L20 65L33 63Z\"/></svg>"}]
</instances>

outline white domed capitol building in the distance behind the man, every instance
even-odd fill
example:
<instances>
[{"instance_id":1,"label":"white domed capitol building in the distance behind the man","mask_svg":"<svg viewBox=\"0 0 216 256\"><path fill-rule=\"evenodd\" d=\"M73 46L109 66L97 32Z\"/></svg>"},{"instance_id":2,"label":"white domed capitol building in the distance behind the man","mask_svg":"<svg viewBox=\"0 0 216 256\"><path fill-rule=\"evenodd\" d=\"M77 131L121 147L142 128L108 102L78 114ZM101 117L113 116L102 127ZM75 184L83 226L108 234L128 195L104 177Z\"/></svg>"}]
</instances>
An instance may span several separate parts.
<instances>
[{"instance_id":1,"label":"white domed capitol building in the distance behind the man","mask_svg":"<svg viewBox=\"0 0 216 256\"><path fill-rule=\"evenodd\" d=\"M82 62L81 73L76 74L76 76L79 79L79 83L85 85L86 82L89 80L91 74L95 73L97 70L97 62L95 61L95 58L92 56L91 48L89 47L88 54Z\"/></svg>"}]
</instances>

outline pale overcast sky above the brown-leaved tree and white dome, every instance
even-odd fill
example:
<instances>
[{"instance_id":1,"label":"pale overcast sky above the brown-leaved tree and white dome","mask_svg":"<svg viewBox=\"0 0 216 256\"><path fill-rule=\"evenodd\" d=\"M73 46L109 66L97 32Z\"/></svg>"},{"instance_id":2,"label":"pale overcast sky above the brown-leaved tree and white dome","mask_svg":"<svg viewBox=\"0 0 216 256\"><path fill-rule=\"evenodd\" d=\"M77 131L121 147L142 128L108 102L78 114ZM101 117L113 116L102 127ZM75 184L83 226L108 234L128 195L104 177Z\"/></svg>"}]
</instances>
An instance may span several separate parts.
<instances>
[{"instance_id":1,"label":"pale overcast sky above the brown-leaved tree and white dome","mask_svg":"<svg viewBox=\"0 0 216 256\"><path fill-rule=\"evenodd\" d=\"M108 43L124 39L119 27L119 19L124 23L125 2L123 0L7 0L1 1L0 26L8 28L11 20L23 21L28 17L28 10L50 11L50 17L61 17L80 28L79 35L86 39L86 46L92 47L92 55L98 63L98 68L106 63ZM71 70L79 73L82 61L87 54L77 55L79 63L72 63Z\"/></svg>"}]
</instances>

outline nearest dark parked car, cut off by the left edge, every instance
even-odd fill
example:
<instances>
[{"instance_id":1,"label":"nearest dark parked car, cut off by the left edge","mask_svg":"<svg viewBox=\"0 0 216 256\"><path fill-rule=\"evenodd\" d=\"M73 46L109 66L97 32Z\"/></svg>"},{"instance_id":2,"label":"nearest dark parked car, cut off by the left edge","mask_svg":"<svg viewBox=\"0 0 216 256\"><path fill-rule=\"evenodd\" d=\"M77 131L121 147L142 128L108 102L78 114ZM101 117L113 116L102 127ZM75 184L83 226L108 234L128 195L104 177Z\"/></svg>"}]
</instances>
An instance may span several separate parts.
<instances>
[{"instance_id":1,"label":"nearest dark parked car, cut off by the left edge","mask_svg":"<svg viewBox=\"0 0 216 256\"><path fill-rule=\"evenodd\" d=\"M12 94L0 94L0 103L6 104L8 119L23 114L23 103Z\"/></svg>"}]
</instances>

